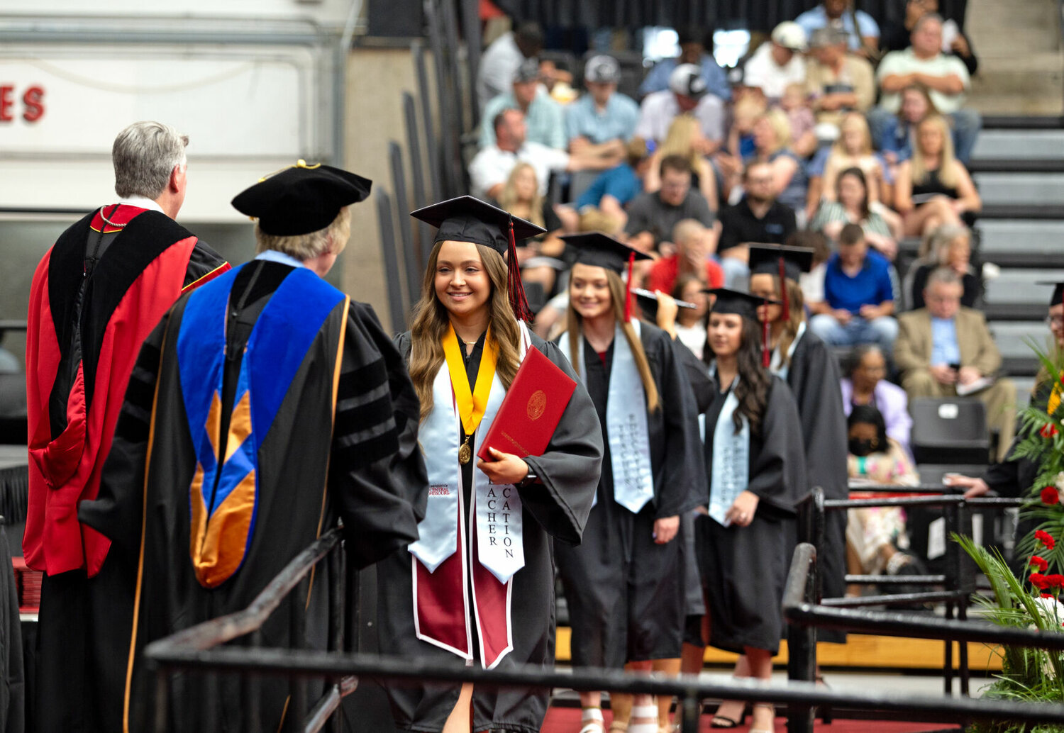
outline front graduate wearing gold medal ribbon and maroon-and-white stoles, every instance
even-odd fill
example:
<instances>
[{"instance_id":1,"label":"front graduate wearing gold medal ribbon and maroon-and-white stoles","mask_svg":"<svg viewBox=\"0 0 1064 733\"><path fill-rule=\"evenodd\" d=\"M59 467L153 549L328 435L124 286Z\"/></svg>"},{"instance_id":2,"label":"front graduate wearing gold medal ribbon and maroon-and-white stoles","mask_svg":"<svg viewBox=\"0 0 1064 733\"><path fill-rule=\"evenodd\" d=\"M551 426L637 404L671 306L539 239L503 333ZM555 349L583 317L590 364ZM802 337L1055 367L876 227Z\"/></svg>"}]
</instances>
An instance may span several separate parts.
<instances>
[{"instance_id":1,"label":"front graduate wearing gold medal ribbon and maroon-and-white stoles","mask_svg":"<svg viewBox=\"0 0 1064 733\"><path fill-rule=\"evenodd\" d=\"M543 455L488 447L492 460L476 457L529 349L576 379L558 347L525 324L516 240L544 230L470 196L413 216L438 228L413 324L398 337L420 398L430 489L418 542L378 567L381 651L550 668L551 538L577 544L584 532L602 461L602 436L588 430L595 406L578 384ZM403 683L387 692L403 731L537 733L547 714L545 689Z\"/></svg>"}]
</instances>

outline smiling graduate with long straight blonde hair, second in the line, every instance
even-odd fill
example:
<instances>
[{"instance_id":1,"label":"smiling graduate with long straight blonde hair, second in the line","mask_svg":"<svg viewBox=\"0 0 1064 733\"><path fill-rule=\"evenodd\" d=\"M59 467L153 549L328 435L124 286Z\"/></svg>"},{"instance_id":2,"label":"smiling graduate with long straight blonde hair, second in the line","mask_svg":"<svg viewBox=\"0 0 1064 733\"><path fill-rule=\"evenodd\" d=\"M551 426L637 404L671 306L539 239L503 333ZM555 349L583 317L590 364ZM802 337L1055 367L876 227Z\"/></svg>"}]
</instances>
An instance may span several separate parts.
<instances>
[{"instance_id":1,"label":"smiling graduate with long straight blonde hair, second in the line","mask_svg":"<svg viewBox=\"0 0 1064 733\"><path fill-rule=\"evenodd\" d=\"M606 444L584 542L555 547L572 663L649 670L669 660L665 671L676 674L686 588L680 516L705 503L694 393L669 335L630 319L621 272L646 255L601 233L563 238L577 255L559 344ZM581 730L602 731L601 694L580 697ZM650 696L613 695L611 707L611 730L656 733L668 723Z\"/></svg>"}]
</instances>

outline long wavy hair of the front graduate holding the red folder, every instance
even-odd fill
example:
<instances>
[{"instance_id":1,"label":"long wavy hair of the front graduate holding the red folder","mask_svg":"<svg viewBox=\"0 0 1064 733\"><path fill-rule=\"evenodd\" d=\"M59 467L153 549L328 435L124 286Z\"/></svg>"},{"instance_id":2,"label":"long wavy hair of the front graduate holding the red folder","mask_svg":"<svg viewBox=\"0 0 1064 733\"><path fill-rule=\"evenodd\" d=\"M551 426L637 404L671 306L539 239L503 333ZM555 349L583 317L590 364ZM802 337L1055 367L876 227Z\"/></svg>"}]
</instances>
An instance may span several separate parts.
<instances>
[{"instance_id":1,"label":"long wavy hair of the front graduate holding the red folder","mask_svg":"<svg viewBox=\"0 0 1064 733\"><path fill-rule=\"evenodd\" d=\"M444 364L444 335L450 326L447 309L436 297L436 261L444 243L437 241L429 254L429 266L421 281L421 298L414 306L414 322L410 328L410 378L421 400L421 422L432 412L432 383ZM488 333L498 349L495 371L506 389L520 366L520 327L506 297L506 262L491 247L477 245L481 262L492 281L487 301Z\"/></svg>"}]
</instances>

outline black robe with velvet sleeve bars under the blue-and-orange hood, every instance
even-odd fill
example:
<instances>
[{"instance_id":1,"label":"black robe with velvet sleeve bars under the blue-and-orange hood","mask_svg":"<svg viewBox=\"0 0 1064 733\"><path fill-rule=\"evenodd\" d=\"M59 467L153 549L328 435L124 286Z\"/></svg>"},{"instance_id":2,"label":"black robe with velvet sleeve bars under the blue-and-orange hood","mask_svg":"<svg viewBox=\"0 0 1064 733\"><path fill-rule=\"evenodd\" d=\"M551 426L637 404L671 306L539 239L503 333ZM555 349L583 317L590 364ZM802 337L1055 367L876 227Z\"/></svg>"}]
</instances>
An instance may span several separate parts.
<instances>
[{"instance_id":1,"label":"black robe with velvet sleeve bars under the blue-and-orange hood","mask_svg":"<svg viewBox=\"0 0 1064 733\"><path fill-rule=\"evenodd\" d=\"M247 338L252 326L265 321L260 319L264 306L294 272L297 269L287 265L253 261L235 280L227 276L205 286L232 288L221 293L229 293L226 311L232 316L226 324L227 353L244 353L238 334ZM309 276L301 270L299 277L305 283ZM315 287L331 288L323 282L315 282ZM83 503L79 513L82 521L113 540L113 553L131 557L134 569L140 565L134 578L139 613L133 647L130 650L127 643L115 650L121 659L131 654L134 663L130 731L151 730L155 680L145 669L146 644L246 607L300 550L335 527L337 518L343 519L349 562L355 567L417 536L427 479L417 451L416 393L372 310L351 302L345 312L343 294L334 288L329 293L338 302L317 333L307 336L305 354L292 364L290 383L276 385L276 417L254 444L257 509L243 564L211 589L197 581L189 559L189 486L198 459L183 385L195 389L196 380L182 381L177 346L188 297L178 301L140 351L99 498ZM343 353L337 354L342 330ZM266 368L273 373L275 364ZM226 416L233 414L234 389L229 384L227 379L223 400L230 404L220 411ZM226 430L222 424L222 434ZM270 616L262 628L264 646L325 647L328 584L311 585L313 593L304 581ZM305 633L294 637L292 612L295 604L307 603ZM264 730L294 730L306 711L286 710L287 681L263 678L260 684ZM246 730L239 681L232 676L211 680L174 674L169 699L169 730Z\"/></svg>"}]
</instances>

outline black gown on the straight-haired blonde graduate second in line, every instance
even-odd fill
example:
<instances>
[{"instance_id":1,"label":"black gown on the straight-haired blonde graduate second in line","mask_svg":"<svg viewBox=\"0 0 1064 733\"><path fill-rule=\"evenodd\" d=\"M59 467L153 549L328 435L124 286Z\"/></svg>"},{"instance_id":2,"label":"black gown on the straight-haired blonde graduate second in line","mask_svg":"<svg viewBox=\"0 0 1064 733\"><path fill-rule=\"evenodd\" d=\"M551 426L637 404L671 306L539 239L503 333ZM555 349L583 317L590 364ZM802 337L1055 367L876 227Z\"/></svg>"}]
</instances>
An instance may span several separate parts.
<instances>
[{"instance_id":1,"label":"black gown on the straight-haired blonde graduate second in line","mask_svg":"<svg viewBox=\"0 0 1064 733\"><path fill-rule=\"evenodd\" d=\"M638 514L614 500L606 444L598 503L584 540L579 548L555 546L577 666L620 667L626 662L680 655L688 587L684 523L665 545L654 543L653 524L659 518L683 516L706 501L705 472L698 459L698 414L672 340L647 323L642 324L639 340L662 405L647 414L654 498ZM585 383L603 436L614 348L611 344L603 364L586 340L583 347Z\"/></svg>"}]
</instances>

